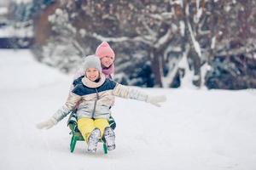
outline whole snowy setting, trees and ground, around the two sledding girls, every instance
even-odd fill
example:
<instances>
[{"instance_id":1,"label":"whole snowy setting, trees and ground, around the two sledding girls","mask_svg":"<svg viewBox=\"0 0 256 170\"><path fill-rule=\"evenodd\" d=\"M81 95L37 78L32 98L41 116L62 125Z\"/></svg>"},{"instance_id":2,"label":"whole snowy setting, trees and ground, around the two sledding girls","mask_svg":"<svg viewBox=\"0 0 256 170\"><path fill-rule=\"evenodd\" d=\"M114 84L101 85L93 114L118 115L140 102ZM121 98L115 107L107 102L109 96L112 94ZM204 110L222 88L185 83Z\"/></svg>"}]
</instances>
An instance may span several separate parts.
<instances>
[{"instance_id":1,"label":"whole snowy setting, trees and ground, around the two sledding girls","mask_svg":"<svg viewBox=\"0 0 256 170\"><path fill-rule=\"evenodd\" d=\"M0 170L255 170L255 14L256 0L1 0ZM116 150L70 153L67 118L35 124L102 41L118 82L167 101L116 99Z\"/></svg>"}]
</instances>

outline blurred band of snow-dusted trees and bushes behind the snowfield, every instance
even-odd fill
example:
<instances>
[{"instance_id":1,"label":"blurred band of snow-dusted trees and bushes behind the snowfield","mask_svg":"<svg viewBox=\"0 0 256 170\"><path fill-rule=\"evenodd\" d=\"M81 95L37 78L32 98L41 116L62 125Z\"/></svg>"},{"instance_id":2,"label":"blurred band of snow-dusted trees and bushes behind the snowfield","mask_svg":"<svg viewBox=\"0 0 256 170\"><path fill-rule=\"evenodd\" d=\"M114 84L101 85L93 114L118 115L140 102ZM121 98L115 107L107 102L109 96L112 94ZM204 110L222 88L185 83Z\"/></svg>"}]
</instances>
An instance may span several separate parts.
<instances>
[{"instance_id":1,"label":"blurred band of snow-dusted trees and bushes behind the snowfield","mask_svg":"<svg viewBox=\"0 0 256 170\"><path fill-rule=\"evenodd\" d=\"M61 72L109 42L115 79L144 88L256 88L256 0L1 0L0 48Z\"/></svg>"}]
</instances>

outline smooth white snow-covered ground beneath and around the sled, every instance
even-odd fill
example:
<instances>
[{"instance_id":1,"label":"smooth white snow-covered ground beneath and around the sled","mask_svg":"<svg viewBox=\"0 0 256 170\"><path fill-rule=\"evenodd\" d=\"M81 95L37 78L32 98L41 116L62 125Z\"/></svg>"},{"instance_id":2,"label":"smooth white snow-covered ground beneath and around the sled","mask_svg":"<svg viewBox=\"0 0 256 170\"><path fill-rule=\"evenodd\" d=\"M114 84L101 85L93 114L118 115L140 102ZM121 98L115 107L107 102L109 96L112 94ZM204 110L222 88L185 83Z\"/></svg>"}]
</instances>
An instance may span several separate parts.
<instances>
[{"instance_id":1,"label":"smooth white snow-covered ground beneath and around the sled","mask_svg":"<svg viewBox=\"0 0 256 170\"><path fill-rule=\"evenodd\" d=\"M69 152L67 118L49 118L67 99L72 76L32 59L28 51L0 51L0 169L254 170L256 91L143 89L166 94L157 108L116 99L116 150L96 154L79 142Z\"/></svg>"}]
</instances>

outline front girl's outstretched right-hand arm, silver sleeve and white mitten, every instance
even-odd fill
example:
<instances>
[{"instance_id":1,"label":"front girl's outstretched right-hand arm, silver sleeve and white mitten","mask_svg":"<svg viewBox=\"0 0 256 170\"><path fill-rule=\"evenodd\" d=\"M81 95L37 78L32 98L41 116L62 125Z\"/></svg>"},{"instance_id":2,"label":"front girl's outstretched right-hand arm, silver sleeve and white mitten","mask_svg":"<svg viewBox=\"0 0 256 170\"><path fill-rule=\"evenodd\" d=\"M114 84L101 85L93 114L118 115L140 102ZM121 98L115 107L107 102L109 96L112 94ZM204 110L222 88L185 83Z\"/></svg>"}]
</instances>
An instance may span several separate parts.
<instances>
[{"instance_id":1,"label":"front girl's outstretched right-hand arm, silver sleeve and white mitten","mask_svg":"<svg viewBox=\"0 0 256 170\"><path fill-rule=\"evenodd\" d=\"M137 99L137 100L145 101L152 105L156 105L158 107L160 107L161 102L166 101L165 95L151 96L137 88L131 88L129 86L124 86L118 83L116 84L115 88L113 88L113 95L119 96L125 99Z\"/></svg>"}]
</instances>

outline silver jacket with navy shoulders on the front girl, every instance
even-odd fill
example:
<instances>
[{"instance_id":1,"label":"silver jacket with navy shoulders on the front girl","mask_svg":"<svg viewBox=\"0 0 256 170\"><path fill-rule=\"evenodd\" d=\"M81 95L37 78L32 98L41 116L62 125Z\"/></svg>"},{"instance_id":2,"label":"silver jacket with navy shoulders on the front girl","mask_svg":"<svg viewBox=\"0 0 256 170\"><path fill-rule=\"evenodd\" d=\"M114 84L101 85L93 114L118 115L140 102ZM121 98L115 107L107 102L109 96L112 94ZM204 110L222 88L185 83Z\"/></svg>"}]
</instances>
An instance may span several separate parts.
<instances>
[{"instance_id":1,"label":"silver jacket with navy shoulders on the front girl","mask_svg":"<svg viewBox=\"0 0 256 170\"><path fill-rule=\"evenodd\" d=\"M73 111L79 102L77 111L78 118L106 118L110 116L110 107L114 96L125 99L137 99L147 101L148 95L128 86L121 85L101 74L99 82L91 82L88 78L82 76L73 82L73 90L65 103L55 112L54 118L60 122L65 116Z\"/></svg>"}]
</instances>

